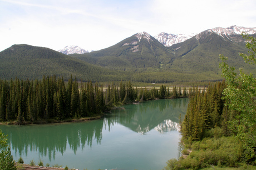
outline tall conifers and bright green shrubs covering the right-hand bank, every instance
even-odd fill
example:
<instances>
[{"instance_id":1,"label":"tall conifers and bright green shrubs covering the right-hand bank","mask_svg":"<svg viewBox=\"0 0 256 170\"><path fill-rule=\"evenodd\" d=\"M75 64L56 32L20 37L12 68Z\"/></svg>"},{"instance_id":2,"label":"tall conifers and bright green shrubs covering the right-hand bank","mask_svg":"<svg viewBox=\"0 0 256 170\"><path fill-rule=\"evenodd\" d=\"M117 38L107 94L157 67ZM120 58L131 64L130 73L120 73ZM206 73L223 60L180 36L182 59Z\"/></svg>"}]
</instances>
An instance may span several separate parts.
<instances>
[{"instance_id":1,"label":"tall conifers and bright green shrubs covering the right-hand bank","mask_svg":"<svg viewBox=\"0 0 256 170\"><path fill-rule=\"evenodd\" d=\"M242 124L240 111L230 109L230 101L223 94L225 89L227 84L222 81L209 84L207 89L195 87L190 91L188 110L180 124L183 156L170 159L165 169L246 169L248 164L255 165L255 145L249 138L239 137L238 131L239 126L244 127L244 133L250 127Z\"/></svg>"}]
</instances>

